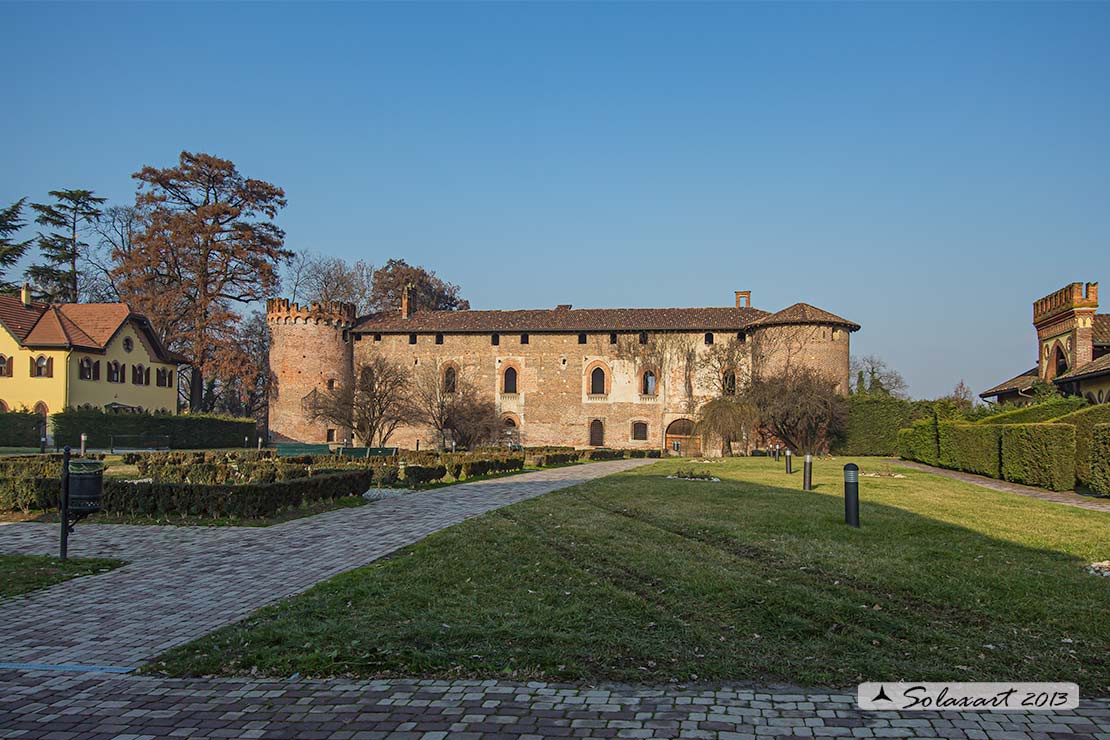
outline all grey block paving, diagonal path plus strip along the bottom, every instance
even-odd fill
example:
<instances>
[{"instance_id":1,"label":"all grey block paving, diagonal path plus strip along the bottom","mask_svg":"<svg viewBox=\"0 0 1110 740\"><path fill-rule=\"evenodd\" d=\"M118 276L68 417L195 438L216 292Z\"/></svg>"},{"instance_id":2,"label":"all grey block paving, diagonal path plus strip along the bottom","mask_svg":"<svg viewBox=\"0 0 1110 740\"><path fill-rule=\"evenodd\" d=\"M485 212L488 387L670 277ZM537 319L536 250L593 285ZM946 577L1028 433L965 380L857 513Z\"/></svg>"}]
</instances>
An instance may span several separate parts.
<instances>
[{"instance_id":1,"label":"all grey block paving, diagonal path plus strip along the bottom","mask_svg":"<svg viewBox=\"0 0 1110 740\"><path fill-rule=\"evenodd\" d=\"M132 668L465 518L639 464L465 484L263 529L79 526L74 557L130 564L0 601L0 662ZM57 534L51 525L3 525L0 551L52 554ZM841 691L779 686L164 679L0 669L0 738L586 737L1110 740L1110 699L1083 699L1077 711L1052 713L864 712Z\"/></svg>"}]
</instances>

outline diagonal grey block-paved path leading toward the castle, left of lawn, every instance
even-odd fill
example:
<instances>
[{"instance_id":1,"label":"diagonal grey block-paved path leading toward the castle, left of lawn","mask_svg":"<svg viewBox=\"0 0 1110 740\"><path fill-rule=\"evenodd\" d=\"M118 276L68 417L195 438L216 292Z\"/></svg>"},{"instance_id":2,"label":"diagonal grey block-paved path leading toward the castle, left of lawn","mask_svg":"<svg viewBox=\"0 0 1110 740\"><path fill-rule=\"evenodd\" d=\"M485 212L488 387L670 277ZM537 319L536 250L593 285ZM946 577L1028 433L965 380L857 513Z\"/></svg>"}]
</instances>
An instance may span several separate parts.
<instances>
[{"instance_id":1,"label":"diagonal grey block-paved path leading toward the castle, left of lawn","mask_svg":"<svg viewBox=\"0 0 1110 740\"><path fill-rule=\"evenodd\" d=\"M463 519L652 462L461 484L273 527L78 525L72 557L128 565L0 600L0 663L134 668ZM0 525L0 553L57 548L58 525Z\"/></svg>"}]
</instances>

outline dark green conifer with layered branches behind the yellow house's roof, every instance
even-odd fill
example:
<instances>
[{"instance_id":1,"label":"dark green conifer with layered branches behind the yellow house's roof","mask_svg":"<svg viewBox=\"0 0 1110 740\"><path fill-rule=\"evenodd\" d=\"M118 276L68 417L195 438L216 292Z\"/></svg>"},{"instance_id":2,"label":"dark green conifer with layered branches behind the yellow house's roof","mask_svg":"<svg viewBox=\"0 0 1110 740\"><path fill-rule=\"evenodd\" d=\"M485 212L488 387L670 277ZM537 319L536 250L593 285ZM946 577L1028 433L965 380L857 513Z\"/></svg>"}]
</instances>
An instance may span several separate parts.
<instances>
[{"instance_id":1,"label":"dark green conifer with layered branches behind the yellow house's roof","mask_svg":"<svg viewBox=\"0 0 1110 740\"><path fill-rule=\"evenodd\" d=\"M32 203L38 212L34 222L53 229L39 234L39 252L44 262L27 268L27 276L34 283L38 297L51 303L77 303L79 292L78 259L88 243L81 241L83 231L100 217L100 204L91 190L52 190L54 203Z\"/></svg>"}]
</instances>

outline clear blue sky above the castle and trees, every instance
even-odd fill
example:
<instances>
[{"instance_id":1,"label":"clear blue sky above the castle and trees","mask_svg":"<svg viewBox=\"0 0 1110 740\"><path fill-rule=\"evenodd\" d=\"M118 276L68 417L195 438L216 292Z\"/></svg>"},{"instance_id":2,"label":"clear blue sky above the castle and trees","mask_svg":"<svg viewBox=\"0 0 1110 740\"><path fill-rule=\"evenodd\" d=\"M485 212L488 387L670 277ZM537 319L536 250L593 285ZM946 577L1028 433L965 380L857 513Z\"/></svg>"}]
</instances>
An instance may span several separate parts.
<instances>
[{"instance_id":1,"label":"clear blue sky above the castle and trees","mask_svg":"<svg viewBox=\"0 0 1110 740\"><path fill-rule=\"evenodd\" d=\"M0 205L209 152L290 246L475 308L806 301L920 397L1110 296L1106 2L0 3Z\"/></svg>"}]
</instances>

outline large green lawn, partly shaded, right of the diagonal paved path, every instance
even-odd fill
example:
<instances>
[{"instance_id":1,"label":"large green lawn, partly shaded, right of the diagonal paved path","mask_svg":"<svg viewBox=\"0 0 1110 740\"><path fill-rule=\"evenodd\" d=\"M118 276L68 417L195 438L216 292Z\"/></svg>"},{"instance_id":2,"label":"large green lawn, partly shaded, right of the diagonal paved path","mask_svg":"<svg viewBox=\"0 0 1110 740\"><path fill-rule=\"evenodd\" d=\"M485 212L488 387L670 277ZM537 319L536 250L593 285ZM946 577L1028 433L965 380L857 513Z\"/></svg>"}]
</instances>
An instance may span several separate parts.
<instances>
[{"instance_id":1,"label":"large green lawn, partly shaded, right of the diagonal paved path","mask_svg":"<svg viewBox=\"0 0 1110 740\"><path fill-rule=\"evenodd\" d=\"M1073 680L1110 693L1110 515L905 468L803 493L766 458L663 462L511 506L175 649L171 675ZM800 467L800 466L799 466Z\"/></svg>"}]
</instances>

